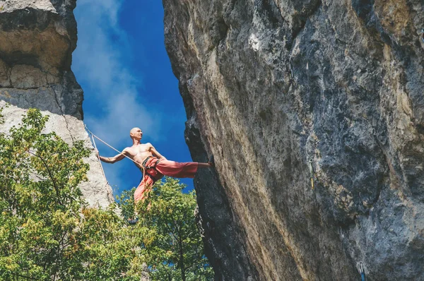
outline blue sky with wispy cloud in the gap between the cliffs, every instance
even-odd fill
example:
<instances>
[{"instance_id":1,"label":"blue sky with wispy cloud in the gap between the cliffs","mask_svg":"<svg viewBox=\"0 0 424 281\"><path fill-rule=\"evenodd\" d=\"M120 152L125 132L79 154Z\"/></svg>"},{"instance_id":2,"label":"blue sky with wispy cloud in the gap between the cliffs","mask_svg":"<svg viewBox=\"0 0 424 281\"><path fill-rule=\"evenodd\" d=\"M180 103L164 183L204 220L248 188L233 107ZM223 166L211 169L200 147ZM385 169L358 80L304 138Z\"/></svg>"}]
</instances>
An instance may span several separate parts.
<instances>
[{"instance_id":1,"label":"blue sky with wispy cloud in the gap between the cliffs","mask_svg":"<svg viewBox=\"0 0 424 281\"><path fill-rule=\"evenodd\" d=\"M159 0L78 0L77 48L72 70L84 90L84 123L114 148L132 145L129 130L140 127L168 160L192 161L184 141L185 115L178 81L163 37ZM96 141L100 155L114 150ZM104 164L114 194L137 186L141 172L130 160ZM192 189L192 179L182 179Z\"/></svg>"}]
</instances>

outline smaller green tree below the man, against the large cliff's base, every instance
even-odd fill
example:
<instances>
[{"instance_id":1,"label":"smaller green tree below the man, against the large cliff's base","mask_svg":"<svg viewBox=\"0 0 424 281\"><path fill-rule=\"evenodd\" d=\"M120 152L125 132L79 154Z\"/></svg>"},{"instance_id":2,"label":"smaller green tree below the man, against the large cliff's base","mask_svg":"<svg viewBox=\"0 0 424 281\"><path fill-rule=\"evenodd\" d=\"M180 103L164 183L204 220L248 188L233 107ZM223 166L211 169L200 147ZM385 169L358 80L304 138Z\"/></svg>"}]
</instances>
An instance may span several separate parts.
<instances>
[{"instance_id":1,"label":"smaller green tree below the man, against the large cliff's base","mask_svg":"<svg viewBox=\"0 0 424 281\"><path fill-rule=\"evenodd\" d=\"M136 227L143 231L142 249L153 280L213 280L213 270L204 256L204 246L194 220L194 191L182 193L184 184L165 177L153 186ZM122 213L134 213L134 189L118 198Z\"/></svg>"}]
</instances>

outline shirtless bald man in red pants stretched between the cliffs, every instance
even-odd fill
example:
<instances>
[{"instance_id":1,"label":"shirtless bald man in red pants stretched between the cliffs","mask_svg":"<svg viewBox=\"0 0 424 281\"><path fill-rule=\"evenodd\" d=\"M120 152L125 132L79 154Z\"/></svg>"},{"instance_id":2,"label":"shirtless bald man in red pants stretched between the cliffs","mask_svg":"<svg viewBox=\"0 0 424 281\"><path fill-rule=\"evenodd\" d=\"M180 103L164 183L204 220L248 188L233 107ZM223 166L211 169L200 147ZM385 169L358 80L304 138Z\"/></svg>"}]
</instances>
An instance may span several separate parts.
<instances>
[{"instance_id":1,"label":"shirtless bald man in red pants stretched between the cliffs","mask_svg":"<svg viewBox=\"0 0 424 281\"><path fill-rule=\"evenodd\" d=\"M141 143L143 132L140 128L132 128L129 136L133 141L133 145L122 150L122 153L114 157L100 157L102 162L114 163L124 159L125 156L130 157L136 163L136 166L143 171L143 179L134 192L134 202L146 198L146 192L151 186L161 179L164 175L178 178L194 178L197 168L213 167L213 157L208 163L199 162L175 162L167 160L163 155L155 150L151 143ZM124 156L125 155L125 156Z\"/></svg>"}]
</instances>

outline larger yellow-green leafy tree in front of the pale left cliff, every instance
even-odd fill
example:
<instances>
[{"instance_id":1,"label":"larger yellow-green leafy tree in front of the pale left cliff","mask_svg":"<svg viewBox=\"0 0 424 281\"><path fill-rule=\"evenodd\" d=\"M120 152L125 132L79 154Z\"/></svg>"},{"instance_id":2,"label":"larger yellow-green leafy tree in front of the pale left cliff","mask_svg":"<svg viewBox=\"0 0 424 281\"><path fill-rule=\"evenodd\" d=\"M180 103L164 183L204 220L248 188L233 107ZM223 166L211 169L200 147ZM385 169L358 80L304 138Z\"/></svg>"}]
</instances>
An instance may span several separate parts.
<instances>
[{"instance_id":1,"label":"larger yellow-green leafy tree in front of the pale left cliff","mask_svg":"<svg viewBox=\"0 0 424 281\"><path fill-rule=\"evenodd\" d=\"M87 208L90 150L42 133L47 119L29 109L0 134L0 280L140 280L143 229Z\"/></svg>"}]
</instances>

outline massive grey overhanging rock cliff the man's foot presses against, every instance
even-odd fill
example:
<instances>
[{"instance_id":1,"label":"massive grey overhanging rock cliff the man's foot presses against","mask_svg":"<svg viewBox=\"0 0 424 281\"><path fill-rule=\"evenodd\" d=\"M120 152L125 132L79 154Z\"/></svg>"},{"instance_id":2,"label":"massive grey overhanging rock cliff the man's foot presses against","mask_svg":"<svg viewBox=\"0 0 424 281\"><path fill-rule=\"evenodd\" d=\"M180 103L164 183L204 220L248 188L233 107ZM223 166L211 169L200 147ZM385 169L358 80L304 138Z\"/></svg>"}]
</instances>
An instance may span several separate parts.
<instances>
[{"instance_id":1,"label":"massive grey overhanging rock cliff the man's foot presses against","mask_svg":"<svg viewBox=\"0 0 424 281\"><path fill-rule=\"evenodd\" d=\"M424 280L424 2L163 5L216 279Z\"/></svg>"}]
</instances>

